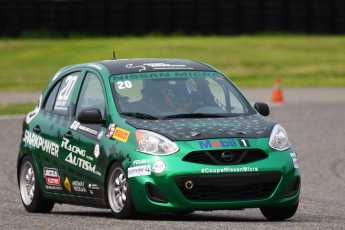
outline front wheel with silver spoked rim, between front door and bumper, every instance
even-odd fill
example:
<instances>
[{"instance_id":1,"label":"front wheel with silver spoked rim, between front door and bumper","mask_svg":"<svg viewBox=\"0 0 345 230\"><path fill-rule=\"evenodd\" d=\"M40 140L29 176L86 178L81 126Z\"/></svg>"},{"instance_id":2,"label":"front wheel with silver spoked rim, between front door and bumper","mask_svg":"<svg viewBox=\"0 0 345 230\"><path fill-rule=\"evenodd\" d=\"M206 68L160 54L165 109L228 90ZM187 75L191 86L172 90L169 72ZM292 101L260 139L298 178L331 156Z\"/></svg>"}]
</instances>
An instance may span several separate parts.
<instances>
[{"instance_id":1,"label":"front wheel with silver spoked rim, between front door and bumper","mask_svg":"<svg viewBox=\"0 0 345 230\"><path fill-rule=\"evenodd\" d=\"M128 178L122 165L118 162L115 162L109 170L107 198L109 207L116 218L131 219L138 216L133 204Z\"/></svg>"}]
</instances>

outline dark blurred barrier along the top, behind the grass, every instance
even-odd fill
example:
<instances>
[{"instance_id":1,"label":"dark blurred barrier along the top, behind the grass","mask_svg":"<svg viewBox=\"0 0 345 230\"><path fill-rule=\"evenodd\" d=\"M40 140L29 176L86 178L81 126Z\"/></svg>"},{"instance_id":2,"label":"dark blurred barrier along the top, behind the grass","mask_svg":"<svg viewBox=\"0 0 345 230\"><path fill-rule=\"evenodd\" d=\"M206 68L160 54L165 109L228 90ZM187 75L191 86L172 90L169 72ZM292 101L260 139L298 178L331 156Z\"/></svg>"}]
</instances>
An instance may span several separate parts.
<instances>
[{"instance_id":1,"label":"dark blurred barrier along the top, behind the grass","mask_svg":"<svg viewBox=\"0 0 345 230\"><path fill-rule=\"evenodd\" d=\"M1 5L2 36L345 33L343 0L2 0Z\"/></svg>"}]
</instances>

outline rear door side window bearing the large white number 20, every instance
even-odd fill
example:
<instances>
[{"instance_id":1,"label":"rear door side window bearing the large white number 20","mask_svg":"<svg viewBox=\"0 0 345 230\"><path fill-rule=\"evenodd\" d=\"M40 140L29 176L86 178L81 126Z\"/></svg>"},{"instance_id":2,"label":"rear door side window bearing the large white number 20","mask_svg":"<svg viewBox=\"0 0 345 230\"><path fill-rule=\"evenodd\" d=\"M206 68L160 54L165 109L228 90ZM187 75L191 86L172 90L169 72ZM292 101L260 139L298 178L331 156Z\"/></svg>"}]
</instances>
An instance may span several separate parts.
<instances>
[{"instance_id":1,"label":"rear door side window bearing the large white number 20","mask_svg":"<svg viewBox=\"0 0 345 230\"><path fill-rule=\"evenodd\" d=\"M59 92L57 93L57 98L54 104L54 112L67 114L68 106L70 104L73 89L75 83L77 82L78 76L79 72L76 72L62 79L60 84L61 86L59 88Z\"/></svg>"}]
</instances>

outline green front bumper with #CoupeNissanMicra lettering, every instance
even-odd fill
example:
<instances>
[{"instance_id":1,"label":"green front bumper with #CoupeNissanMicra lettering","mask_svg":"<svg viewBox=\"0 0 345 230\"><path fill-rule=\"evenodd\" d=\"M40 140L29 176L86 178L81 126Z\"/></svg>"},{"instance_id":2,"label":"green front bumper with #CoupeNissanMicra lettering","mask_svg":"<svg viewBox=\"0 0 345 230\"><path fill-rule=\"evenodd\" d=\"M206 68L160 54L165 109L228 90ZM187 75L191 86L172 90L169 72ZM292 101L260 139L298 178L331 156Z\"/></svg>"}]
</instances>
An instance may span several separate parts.
<instances>
[{"instance_id":1,"label":"green front bumper with #CoupeNissanMicra lettering","mask_svg":"<svg viewBox=\"0 0 345 230\"><path fill-rule=\"evenodd\" d=\"M140 212L292 206L300 193L293 152L272 151L266 159L231 166L184 162L178 153L152 157L145 161L163 161L166 168L129 178L132 199Z\"/></svg>"}]
</instances>

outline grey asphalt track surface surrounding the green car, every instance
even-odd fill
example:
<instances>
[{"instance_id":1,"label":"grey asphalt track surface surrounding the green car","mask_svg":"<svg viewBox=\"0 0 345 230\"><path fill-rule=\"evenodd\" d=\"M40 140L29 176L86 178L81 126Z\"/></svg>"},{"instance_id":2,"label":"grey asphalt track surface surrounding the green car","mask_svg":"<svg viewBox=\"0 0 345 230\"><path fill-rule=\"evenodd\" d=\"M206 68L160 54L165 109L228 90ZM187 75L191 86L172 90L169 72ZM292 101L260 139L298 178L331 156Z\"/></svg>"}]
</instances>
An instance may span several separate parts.
<instances>
[{"instance_id":1,"label":"grey asphalt track surface surrounding the green car","mask_svg":"<svg viewBox=\"0 0 345 230\"><path fill-rule=\"evenodd\" d=\"M269 101L270 89L244 90ZM23 116L0 117L0 229L345 229L345 88L286 89L271 105L296 148L302 192L296 215L269 222L259 209L154 214L117 220L110 210L56 204L49 214L25 211L16 181ZM36 95L34 95L36 96Z\"/></svg>"}]
</instances>

